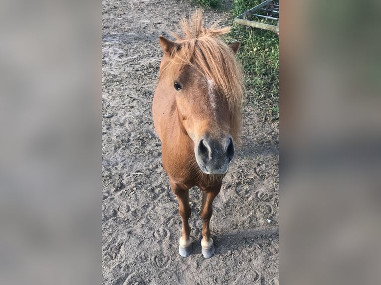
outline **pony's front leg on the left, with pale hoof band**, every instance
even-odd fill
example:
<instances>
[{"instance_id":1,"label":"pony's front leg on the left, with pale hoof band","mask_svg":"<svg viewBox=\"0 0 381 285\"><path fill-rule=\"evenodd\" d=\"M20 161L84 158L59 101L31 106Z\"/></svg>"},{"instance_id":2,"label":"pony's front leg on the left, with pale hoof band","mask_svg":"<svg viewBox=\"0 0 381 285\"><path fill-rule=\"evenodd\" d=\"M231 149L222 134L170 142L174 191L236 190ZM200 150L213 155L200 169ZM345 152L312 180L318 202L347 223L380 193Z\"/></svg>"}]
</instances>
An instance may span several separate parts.
<instances>
[{"instance_id":1,"label":"pony's front leg on the left, with pale hoof band","mask_svg":"<svg viewBox=\"0 0 381 285\"><path fill-rule=\"evenodd\" d=\"M183 221L182 237L180 238L179 253L182 257L188 257L192 253L192 239L189 236L191 227L189 226L189 218L191 216L191 207L189 206L189 189L183 185L170 180L172 191L175 193L179 201L179 214Z\"/></svg>"}]
</instances>

